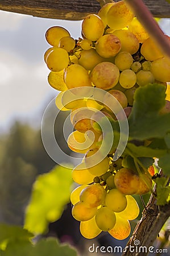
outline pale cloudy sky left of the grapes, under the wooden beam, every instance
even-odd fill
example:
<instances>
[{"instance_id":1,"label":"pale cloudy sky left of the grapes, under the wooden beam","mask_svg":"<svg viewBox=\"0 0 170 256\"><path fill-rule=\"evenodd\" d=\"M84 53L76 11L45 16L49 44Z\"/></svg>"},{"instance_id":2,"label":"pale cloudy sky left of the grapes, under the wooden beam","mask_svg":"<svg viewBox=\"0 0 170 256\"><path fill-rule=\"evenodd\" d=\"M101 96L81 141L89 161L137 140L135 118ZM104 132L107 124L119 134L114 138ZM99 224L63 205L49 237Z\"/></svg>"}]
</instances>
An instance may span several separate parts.
<instances>
[{"instance_id":1,"label":"pale cloudy sky left of the grapes, under the wooden beam","mask_svg":"<svg viewBox=\"0 0 170 256\"><path fill-rule=\"evenodd\" d=\"M170 20L161 20L160 24L170 35ZM81 34L81 21L0 11L0 131L5 131L16 118L24 121L32 118L34 122L57 93L48 85L49 70L43 60L50 47L44 34L51 26L67 28L73 38Z\"/></svg>"}]
</instances>

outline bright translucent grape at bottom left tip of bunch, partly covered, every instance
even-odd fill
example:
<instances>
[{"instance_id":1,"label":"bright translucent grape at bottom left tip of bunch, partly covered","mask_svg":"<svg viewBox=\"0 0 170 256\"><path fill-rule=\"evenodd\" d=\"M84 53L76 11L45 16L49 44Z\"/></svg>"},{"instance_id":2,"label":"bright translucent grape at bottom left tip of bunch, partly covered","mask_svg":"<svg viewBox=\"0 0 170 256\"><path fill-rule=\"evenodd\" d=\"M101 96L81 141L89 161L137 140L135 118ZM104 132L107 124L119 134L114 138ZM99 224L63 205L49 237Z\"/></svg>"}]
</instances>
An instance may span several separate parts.
<instances>
[{"instance_id":1,"label":"bright translucent grape at bottom left tip of bunch, partly covered","mask_svg":"<svg viewBox=\"0 0 170 256\"><path fill-rule=\"evenodd\" d=\"M97 237L101 232L102 230L98 228L95 217L88 221L80 222L80 233L85 238L93 239Z\"/></svg>"}]
</instances>

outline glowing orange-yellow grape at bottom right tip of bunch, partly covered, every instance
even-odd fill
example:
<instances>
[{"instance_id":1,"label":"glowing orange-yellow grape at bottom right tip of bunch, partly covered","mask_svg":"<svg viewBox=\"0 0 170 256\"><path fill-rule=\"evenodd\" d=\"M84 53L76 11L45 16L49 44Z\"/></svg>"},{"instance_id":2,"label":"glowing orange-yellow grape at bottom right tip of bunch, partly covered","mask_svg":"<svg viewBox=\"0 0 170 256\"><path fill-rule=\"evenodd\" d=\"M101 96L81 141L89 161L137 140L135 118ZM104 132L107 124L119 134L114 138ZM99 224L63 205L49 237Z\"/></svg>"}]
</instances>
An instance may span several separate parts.
<instances>
[{"instance_id":1,"label":"glowing orange-yellow grape at bottom right tip of bunch, partly covered","mask_svg":"<svg viewBox=\"0 0 170 256\"><path fill-rule=\"evenodd\" d=\"M117 213L115 213L115 216L116 222L114 228L109 230L109 234L117 240L124 240L130 235L130 223L128 220L119 217Z\"/></svg>"}]
</instances>

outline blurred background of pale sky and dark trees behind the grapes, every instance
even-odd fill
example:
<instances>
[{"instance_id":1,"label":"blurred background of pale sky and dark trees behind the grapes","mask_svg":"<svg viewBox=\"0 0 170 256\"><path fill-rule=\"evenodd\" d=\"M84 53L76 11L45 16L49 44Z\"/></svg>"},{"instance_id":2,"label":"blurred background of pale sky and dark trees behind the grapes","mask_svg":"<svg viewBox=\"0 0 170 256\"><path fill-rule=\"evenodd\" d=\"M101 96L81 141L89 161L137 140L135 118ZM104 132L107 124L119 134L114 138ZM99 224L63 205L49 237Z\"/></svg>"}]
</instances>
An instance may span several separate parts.
<instances>
[{"instance_id":1,"label":"blurred background of pale sky and dark trees behind the grapes","mask_svg":"<svg viewBox=\"0 0 170 256\"><path fill-rule=\"evenodd\" d=\"M170 35L170 20L161 19L159 23ZM81 21L0 11L0 222L23 224L36 176L56 165L45 152L40 135L44 110L59 93L48 84L49 70L43 59L50 47L44 35L51 26L65 27L75 39L81 36ZM63 120L65 115L61 117ZM61 138L62 122L57 125L57 136ZM66 144L64 147L69 154ZM144 199L147 201L148 195ZM132 228L137 221L131 223ZM94 242L96 246L125 246L127 242L114 240L105 232L97 240L82 238L79 223L71 216L71 204L66 205L59 221L49 225L47 236L71 243L81 255L88 255Z\"/></svg>"}]
</instances>

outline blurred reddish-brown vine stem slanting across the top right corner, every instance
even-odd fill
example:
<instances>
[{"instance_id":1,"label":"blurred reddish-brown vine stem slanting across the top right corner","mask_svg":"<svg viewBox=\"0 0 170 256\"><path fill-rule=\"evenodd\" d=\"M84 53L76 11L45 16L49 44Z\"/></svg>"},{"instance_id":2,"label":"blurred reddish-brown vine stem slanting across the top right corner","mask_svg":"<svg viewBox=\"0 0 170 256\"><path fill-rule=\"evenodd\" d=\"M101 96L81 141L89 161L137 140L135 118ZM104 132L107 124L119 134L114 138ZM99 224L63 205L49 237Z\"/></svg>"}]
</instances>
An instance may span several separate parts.
<instances>
[{"instance_id":1,"label":"blurred reddish-brown vine stem slanting across the top right corner","mask_svg":"<svg viewBox=\"0 0 170 256\"><path fill-rule=\"evenodd\" d=\"M138 18L139 22L146 29L148 34L155 40L157 46L161 48L165 56L170 59L170 40L164 35L164 32L160 29L156 23L151 12L144 5L142 0L125 0L128 6L130 6L132 12Z\"/></svg>"}]
</instances>

